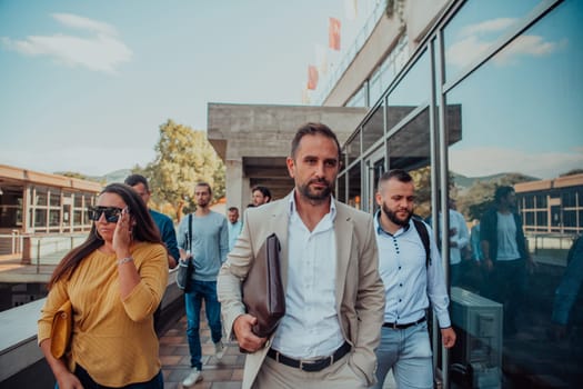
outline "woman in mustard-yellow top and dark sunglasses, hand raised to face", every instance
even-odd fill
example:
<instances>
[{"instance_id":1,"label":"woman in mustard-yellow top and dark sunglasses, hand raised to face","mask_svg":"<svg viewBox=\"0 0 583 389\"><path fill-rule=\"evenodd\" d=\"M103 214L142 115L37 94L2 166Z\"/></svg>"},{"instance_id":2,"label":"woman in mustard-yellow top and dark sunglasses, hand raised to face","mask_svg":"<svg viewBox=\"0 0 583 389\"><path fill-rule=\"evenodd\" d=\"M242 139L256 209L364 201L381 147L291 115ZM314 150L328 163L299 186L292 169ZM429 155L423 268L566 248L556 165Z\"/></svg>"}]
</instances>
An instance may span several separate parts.
<instances>
[{"instance_id":1,"label":"woman in mustard-yellow top and dark sunglasses, hand raised to face","mask_svg":"<svg viewBox=\"0 0 583 389\"><path fill-rule=\"evenodd\" d=\"M103 189L87 240L54 269L39 319L39 345L56 388L163 388L153 313L168 281L167 251L145 205L123 183ZM51 353L51 322L72 305L71 349Z\"/></svg>"}]
</instances>

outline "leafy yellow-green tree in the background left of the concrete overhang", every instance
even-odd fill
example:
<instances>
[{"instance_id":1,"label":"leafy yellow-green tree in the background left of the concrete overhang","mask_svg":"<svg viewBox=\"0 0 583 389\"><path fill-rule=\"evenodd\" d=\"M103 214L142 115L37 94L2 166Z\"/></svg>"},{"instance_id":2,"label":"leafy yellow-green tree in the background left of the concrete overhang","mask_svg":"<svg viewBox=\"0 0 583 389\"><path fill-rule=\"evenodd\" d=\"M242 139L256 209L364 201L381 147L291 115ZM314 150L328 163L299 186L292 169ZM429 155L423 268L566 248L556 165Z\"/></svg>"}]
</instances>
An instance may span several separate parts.
<instances>
[{"instance_id":1,"label":"leafy yellow-green tree in the background left of the concrete overhang","mask_svg":"<svg viewBox=\"0 0 583 389\"><path fill-rule=\"evenodd\" d=\"M224 164L207 140L207 132L168 120L160 126L155 159L144 172L150 181L152 200L173 206L178 221L183 211L192 211L194 186L208 182L213 200L224 196Z\"/></svg>"}]
</instances>

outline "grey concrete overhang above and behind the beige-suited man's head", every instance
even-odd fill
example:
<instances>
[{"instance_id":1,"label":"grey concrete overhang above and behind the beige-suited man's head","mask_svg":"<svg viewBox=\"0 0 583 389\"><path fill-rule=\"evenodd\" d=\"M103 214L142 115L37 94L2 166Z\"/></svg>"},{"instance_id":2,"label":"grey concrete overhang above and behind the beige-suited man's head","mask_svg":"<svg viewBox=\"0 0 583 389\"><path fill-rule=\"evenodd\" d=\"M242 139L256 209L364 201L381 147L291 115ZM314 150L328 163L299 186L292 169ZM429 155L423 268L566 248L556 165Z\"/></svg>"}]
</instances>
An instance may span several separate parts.
<instances>
[{"instance_id":1,"label":"grey concrete overhang above and behind the beige-suited man's head","mask_svg":"<svg viewBox=\"0 0 583 389\"><path fill-rule=\"evenodd\" d=\"M279 198L293 187L285 158L300 126L322 122L343 144L366 112L352 107L209 103L207 137L228 169L229 161L242 163L250 187L264 184Z\"/></svg>"}]
</instances>

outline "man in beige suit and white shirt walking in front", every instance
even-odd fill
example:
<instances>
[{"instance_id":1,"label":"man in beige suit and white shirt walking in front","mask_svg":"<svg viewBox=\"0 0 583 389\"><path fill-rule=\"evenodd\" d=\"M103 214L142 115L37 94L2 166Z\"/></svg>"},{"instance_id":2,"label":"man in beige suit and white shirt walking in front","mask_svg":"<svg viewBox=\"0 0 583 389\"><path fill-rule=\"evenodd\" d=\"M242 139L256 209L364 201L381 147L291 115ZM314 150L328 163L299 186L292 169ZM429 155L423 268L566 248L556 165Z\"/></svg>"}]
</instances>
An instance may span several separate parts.
<instances>
[{"instance_id":1,"label":"man in beige suit and white shirt walking in front","mask_svg":"<svg viewBox=\"0 0 583 389\"><path fill-rule=\"evenodd\" d=\"M372 216L334 200L340 144L326 126L302 126L287 163L295 188L245 211L218 279L228 338L249 352L242 388L366 388L375 381L384 312ZM268 339L251 331L257 319L245 313L241 283L273 232L285 316Z\"/></svg>"}]
</instances>

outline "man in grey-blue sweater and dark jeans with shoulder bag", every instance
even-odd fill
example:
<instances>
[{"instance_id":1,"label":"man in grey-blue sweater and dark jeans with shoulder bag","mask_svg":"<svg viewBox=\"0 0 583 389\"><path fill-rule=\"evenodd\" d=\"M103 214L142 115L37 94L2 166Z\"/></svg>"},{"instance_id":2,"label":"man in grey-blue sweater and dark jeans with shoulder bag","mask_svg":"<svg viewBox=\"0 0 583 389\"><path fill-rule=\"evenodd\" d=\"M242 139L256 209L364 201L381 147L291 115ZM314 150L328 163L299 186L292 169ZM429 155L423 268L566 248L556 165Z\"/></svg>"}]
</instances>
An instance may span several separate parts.
<instances>
[{"instance_id":1,"label":"man in grey-blue sweater and dark jeans with shoulder bag","mask_svg":"<svg viewBox=\"0 0 583 389\"><path fill-rule=\"evenodd\" d=\"M187 337L192 368L182 381L184 387L202 380L202 350L199 333L202 300L214 342L214 357L221 359L224 353L221 341L221 305L217 298L217 275L229 252L229 232L227 218L209 208L211 196L209 183L197 183L194 187L197 211L184 217L178 228L180 260L191 260L194 263L191 287L184 293ZM191 233L189 233L189 225Z\"/></svg>"}]
</instances>

